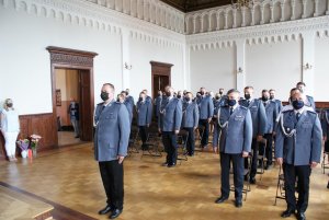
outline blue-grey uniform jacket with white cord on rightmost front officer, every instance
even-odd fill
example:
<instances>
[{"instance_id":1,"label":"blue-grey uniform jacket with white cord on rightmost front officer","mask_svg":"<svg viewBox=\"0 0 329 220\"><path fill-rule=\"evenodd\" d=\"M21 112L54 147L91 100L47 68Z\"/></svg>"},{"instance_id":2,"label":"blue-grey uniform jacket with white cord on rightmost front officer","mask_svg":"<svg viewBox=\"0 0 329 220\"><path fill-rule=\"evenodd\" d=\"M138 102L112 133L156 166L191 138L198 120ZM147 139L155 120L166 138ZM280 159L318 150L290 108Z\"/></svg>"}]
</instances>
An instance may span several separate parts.
<instances>
[{"instance_id":1,"label":"blue-grey uniform jacket with white cord on rightmost front officer","mask_svg":"<svg viewBox=\"0 0 329 220\"><path fill-rule=\"evenodd\" d=\"M287 137L296 129L296 135ZM320 162L322 129L320 120L314 111L304 107L304 112L296 119L294 109L282 113L276 128L275 158L283 158L284 163L307 165Z\"/></svg>"}]
</instances>

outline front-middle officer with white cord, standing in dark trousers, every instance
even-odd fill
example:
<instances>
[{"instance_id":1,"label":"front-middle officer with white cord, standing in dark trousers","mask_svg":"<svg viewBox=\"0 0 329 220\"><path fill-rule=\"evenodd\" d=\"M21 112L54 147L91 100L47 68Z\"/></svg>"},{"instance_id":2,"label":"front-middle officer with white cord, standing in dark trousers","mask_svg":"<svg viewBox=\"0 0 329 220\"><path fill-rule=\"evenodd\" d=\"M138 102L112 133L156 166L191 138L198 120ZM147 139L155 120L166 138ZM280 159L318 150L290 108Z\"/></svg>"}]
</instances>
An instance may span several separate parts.
<instances>
[{"instance_id":1,"label":"front-middle officer with white cord, standing in dark trousers","mask_svg":"<svg viewBox=\"0 0 329 220\"><path fill-rule=\"evenodd\" d=\"M251 150L252 121L248 107L238 104L239 92L232 89L227 95L228 105L220 106L217 116L220 129L222 196L215 202L222 204L229 197L229 170L232 162L235 205L239 208L242 206L243 158Z\"/></svg>"}]
</instances>

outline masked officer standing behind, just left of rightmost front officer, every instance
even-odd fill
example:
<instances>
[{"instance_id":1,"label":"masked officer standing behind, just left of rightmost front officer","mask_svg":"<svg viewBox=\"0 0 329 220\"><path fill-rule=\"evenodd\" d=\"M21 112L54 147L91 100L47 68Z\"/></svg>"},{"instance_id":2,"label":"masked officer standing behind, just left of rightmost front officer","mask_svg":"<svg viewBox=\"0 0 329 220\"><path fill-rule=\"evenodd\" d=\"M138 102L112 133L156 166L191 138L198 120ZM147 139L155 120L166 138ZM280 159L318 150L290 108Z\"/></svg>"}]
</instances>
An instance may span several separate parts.
<instances>
[{"instance_id":1,"label":"masked officer standing behind, just left of rightmost front officer","mask_svg":"<svg viewBox=\"0 0 329 220\"><path fill-rule=\"evenodd\" d=\"M260 143L259 152L260 154L265 154L266 157L266 165L265 170L268 170L272 165L272 149L273 149L273 131L275 127L275 120L277 117L277 104L275 101L270 100L270 92L268 90L262 91L261 101L265 107L266 113L266 127L264 139L266 139L266 146L264 143Z\"/></svg>"}]
</instances>

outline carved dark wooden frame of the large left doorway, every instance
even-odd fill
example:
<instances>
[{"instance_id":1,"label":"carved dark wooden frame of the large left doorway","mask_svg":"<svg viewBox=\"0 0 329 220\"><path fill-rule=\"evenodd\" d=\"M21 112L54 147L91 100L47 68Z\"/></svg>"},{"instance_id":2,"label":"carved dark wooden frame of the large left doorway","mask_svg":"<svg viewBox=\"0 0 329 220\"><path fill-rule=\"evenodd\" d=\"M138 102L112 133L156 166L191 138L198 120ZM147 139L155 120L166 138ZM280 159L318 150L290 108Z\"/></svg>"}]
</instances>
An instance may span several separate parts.
<instances>
[{"instance_id":1,"label":"carved dark wooden frame of the large left doorway","mask_svg":"<svg viewBox=\"0 0 329 220\"><path fill-rule=\"evenodd\" d=\"M56 73L55 70L63 69L77 69L89 70L90 72L90 107L94 108L94 86L93 86L93 58L98 56L97 53L82 51L77 49L69 49L63 47L48 46L46 48L50 54L50 76L52 76L52 96L53 96L53 126L57 127L56 115ZM92 118L91 118L92 125ZM56 134L56 143L58 146L58 135Z\"/></svg>"}]
</instances>

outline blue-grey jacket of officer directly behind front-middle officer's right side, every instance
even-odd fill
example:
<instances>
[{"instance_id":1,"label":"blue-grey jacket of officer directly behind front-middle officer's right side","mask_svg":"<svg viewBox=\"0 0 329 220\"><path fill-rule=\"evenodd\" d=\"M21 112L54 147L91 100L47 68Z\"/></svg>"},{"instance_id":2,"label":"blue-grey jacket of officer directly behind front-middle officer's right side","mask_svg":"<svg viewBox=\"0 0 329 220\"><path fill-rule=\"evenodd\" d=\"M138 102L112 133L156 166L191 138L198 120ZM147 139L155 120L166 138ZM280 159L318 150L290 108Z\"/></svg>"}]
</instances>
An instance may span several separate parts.
<instances>
[{"instance_id":1,"label":"blue-grey jacket of officer directly behind front-middle officer's right side","mask_svg":"<svg viewBox=\"0 0 329 220\"><path fill-rule=\"evenodd\" d=\"M239 103L250 109L253 130L252 137L256 138L257 136L263 136L266 128L266 113L262 102L253 99L249 104L247 100L240 100Z\"/></svg>"}]
</instances>

